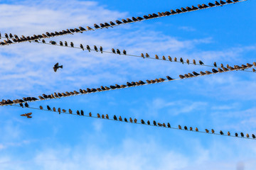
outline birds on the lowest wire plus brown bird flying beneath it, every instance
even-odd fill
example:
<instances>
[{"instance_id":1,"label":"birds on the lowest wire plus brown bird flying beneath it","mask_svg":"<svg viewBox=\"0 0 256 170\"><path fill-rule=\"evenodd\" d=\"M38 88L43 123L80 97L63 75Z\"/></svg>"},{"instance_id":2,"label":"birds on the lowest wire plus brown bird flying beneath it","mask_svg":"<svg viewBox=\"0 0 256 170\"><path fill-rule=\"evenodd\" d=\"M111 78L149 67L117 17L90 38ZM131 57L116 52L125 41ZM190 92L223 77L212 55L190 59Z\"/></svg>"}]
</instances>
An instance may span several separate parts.
<instances>
[{"instance_id":1,"label":"birds on the lowest wire plus brown bird flying beneath it","mask_svg":"<svg viewBox=\"0 0 256 170\"><path fill-rule=\"evenodd\" d=\"M31 107L27 107L27 108L31 108ZM181 125L178 125L178 128L174 128L171 127L170 123L159 123L156 122L156 120L152 121L152 124L149 120L143 120L141 119L140 121L138 121L136 118L122 118L122 116L120 115L119 117L116 115L113 115L113 118L110 118L110 116L108 114L106 115L100 115L100 113L97 113L97 115L92 115L92 113L90 112L88 115L85 115L85 112L82 110L78 110L75 113L73 113L73 111L69 108L68 111L66 111L65 109L61 109L61 108L50 108L50 106L46 106L46 109L43 109L43 106L39 106L39 108L32 108L32 109L37 109L37 110L42 110L42 111L52 111L52 112L57 112L57 113L66 113L66 114L71 114L71 115L82 115L82 116L86 116L86 117L90 117L90 118L101 118L101 119L105 119L105 120L117 120L120 122L125 122L125 123L137 123L137 124L141 124L141 125L151 125L151 126L157 126L157 127L161 127L161 128L171 128L171 129L176 129L176 130L188 130L191 132L204 132L204 133L208 133L208 134L212 134L212 135L225 135L225 136L230 136L230 137L247 137L248 139L255 139L255 135L252 134L252 138L250 138L249 134L244 135L243 132L240 132L240 135L238 135L237 132L235 132L235 135L231 135L230 132L227 132L227 134L225 134L222 130L220 130L220 133L216 133L215 130L211 129L205 129L205 131L200 131L198 130L198 128L195 128L195 130L193 130L192 127L187 127L186 125L182 128ZM22 114L21 116L27 116L27 118L32 118L31 117L32 113L25 113ZM118 117L118 118L117 118Z\"/></svg>"}]
</instances>

